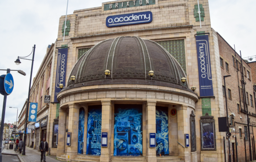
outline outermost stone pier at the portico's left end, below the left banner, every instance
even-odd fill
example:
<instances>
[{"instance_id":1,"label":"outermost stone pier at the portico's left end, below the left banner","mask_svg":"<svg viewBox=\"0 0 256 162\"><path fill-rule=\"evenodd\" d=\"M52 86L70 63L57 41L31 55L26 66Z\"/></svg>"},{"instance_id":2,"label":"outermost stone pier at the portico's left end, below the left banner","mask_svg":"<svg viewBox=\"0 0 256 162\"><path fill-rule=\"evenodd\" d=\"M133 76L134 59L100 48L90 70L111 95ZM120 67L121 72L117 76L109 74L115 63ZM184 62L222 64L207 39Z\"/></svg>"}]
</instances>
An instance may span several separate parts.
<instances>
[{"instance_id":1,"label":"outermost stone pier at the portico's left end, below the left banner","mask_svg":"<svg viewBox=\"0 0 256 162\"><path fill-rule=\"evenodd\" d=\"M64 154L65 149L65 135L66 135L66 108L59 108L59 131L58 131L58 147L57 147L57 156ZM36 141L34 139L34 141Z\"/></svg>"}]
</instances>

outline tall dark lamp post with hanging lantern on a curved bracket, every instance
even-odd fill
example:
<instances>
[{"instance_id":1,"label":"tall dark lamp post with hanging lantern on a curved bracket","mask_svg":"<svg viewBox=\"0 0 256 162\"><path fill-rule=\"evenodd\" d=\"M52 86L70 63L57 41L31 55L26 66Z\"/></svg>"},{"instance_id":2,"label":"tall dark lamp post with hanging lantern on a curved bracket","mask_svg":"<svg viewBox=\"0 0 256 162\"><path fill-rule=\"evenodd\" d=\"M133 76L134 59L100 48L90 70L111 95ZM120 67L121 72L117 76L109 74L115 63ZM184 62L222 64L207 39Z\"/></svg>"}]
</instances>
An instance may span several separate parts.
<instances>
[{"instance_id":1,"label":"tall dark lamp post with hanging lantern on a curved bracket","mask_svg":"<svg viewBox=\"0 0 256 162\"><path fill-rule=\"evenodd\" d=\"M27 115L28 115L28 107L29 107L29 98L30 98L30 87L31 87L31 80L32 80L32 72L33 72L33 64L34 64L34 56L35 56L35 48L36 48L36 45L34 44L34 47L33 47L33 56L32 56L32 65L31 65L31 72L30 72L30 80L29 80L29 87L28 87L28 96L27 96L27 103L26 103L26 114L25 114L25 132L24 132L24 137L23 137L23 150L22 150L22 155L26 155L26 126L27 126ZM31 54L32 54L31 52ZM30 54L30 55L31 55ZM30 56L28 55L28 56ZM28 57L26 56L26 57ZM20 65L20 59L25 59L25 60L30 60L30 59L26 59L25 57L20 57L18 56L18 59L15 61L16 65Z\"/></svg>"}]
</instances>

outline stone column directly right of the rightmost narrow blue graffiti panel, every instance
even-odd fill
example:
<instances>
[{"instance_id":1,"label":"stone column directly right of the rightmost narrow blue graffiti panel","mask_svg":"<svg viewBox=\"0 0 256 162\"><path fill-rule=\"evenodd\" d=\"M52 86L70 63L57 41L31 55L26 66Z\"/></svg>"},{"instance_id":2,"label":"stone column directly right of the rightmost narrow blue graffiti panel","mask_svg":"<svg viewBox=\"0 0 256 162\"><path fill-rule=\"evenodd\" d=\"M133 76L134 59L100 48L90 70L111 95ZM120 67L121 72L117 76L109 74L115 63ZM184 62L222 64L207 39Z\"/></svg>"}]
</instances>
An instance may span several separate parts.
<instances>
[{"instance_id":1,"label":"stone column directly right of the rightmost narrow blue graffiti panel","mask_svg":"<svg viewBox=\"0 0 256 162\"><path fill-rule=\"evenodd\" d=\"M189 118L187 115L187 107L178 105L177 107L177 125L178 125L178 142L185 146L185 134L190 134L188 130ZM182 147L178 145L178 156L182 157L185 162L190 162L190 147Z\"/></svg>"}]
</instances>

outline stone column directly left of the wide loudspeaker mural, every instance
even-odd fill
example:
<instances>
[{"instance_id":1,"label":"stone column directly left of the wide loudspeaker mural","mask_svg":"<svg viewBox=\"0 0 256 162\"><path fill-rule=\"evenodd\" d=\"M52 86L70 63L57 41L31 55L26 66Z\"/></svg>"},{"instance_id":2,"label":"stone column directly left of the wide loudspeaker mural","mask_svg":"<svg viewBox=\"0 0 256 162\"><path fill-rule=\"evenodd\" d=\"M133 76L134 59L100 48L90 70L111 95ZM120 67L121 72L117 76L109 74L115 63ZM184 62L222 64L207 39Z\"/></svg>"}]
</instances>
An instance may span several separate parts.
<instances>
[{"instance_id":1,"label":"stone column directly left of the wide loudspeaker mural","mask_svg":"<svg viewBox=\"0 0 256 162\"><path fill-rule=\"evenodd\" d=\"M111 159L111 124L112 124L112 102L111 100L101 101L102 118L101 132L108 132L108 147L101 147L100 162L110 162Z\"/></svg>"}]
</instances>

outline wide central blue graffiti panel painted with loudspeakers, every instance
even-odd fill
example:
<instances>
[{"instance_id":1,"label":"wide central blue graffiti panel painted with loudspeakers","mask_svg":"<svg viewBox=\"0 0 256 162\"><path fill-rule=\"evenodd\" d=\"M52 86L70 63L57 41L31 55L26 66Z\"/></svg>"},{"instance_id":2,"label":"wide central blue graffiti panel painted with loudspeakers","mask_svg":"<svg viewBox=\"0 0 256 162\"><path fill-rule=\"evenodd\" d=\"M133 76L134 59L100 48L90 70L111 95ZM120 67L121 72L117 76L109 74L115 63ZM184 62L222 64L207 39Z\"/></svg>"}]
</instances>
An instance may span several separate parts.
<instances>
[{"instance_id":1,"label":"wide central blue graffiti panel painted with loudspeakers","mask_svg":"<svg viewBox=\"0 0 256 162\"><path fill-rule=\"evenodd\" d=\"M142 156L142 105L115 104L114 156Z\"/></svg>"}]
</instances>

